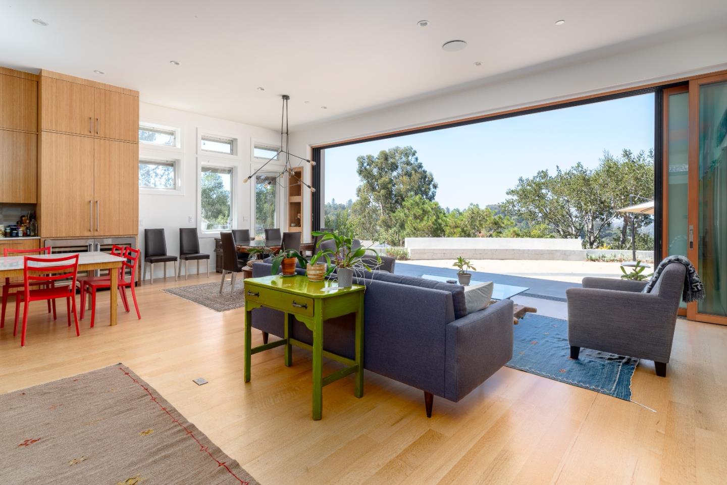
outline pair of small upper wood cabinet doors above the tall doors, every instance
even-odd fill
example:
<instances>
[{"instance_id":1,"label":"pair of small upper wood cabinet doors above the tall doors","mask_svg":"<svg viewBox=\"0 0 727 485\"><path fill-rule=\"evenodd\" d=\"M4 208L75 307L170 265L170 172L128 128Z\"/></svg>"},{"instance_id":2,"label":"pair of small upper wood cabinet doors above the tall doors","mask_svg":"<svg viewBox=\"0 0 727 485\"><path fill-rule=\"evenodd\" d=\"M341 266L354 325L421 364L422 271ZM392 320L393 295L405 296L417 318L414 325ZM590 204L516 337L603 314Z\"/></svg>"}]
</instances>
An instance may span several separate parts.
<instances>
[{"instance_id":1,"label":"pair of small upper wood cabinet doors above the tall doors","mask_svg":"<svg viewBox=\"0 0 727 485\"><path fill-rule=\"evenodd\" d=\"M41 130L136 142L139 93L41 70Z\"/></svg>"}]
</instances>

